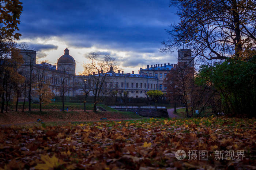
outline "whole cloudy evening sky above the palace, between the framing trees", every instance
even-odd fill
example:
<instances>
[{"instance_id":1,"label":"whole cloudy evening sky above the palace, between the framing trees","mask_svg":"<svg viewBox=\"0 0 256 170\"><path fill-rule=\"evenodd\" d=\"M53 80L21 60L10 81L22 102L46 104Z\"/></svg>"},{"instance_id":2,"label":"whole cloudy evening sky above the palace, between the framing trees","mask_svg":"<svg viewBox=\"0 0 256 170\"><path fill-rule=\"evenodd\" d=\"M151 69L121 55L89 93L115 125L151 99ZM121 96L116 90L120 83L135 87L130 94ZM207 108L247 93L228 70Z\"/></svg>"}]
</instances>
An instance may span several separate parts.
<instances>
[{"instance_id":1,"label":"whole cloudy evening sky above the palace, between the framing trees","mask_svg":"<svg viewBox=\"0 0 256 170\"><path fill-rule=\"evenodd\" d=\"M37 61L56 64L65 48L83 71L90 52L110 55L119 70L177 63L177 51L161 53L165 29L179 22L169 0L21 0L18 43L37 51Z\"/></svg>"}]
</instances>

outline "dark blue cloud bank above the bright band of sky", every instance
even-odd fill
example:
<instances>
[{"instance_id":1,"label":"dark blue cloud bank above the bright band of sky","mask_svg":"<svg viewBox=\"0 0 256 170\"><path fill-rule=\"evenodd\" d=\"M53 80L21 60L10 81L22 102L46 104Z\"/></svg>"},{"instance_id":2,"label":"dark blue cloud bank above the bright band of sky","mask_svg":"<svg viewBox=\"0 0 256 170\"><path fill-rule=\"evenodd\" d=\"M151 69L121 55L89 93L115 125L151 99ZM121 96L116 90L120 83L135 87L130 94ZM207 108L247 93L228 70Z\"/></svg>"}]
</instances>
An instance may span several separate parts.
<instances>
[{"instance_id":1,"label":"dark blue cloud bank above the bright band of sky","mask_svg":"<svg viewBox=\"0 0 256 170\"><path fill-rule=\"evenodd\" d=\"M167 0L23 0L22 37L58 36L69 46L153 52L177 20Z\"/></svg>"}]
</instances>

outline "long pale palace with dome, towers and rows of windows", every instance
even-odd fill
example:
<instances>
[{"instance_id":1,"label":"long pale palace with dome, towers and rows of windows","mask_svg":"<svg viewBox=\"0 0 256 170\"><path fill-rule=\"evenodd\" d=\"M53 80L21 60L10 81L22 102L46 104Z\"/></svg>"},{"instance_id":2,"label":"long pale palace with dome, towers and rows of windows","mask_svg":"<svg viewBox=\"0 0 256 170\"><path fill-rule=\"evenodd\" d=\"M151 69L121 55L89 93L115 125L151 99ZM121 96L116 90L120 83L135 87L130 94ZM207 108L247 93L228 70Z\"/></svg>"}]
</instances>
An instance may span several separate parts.
<instances>
[{"instance_id":1,"label":"long pale palace with dome, towers and rows of windows","mask_svg":"<svg viewBox=\"0 0 256 170\"><path fill-rule=\"evenodd\" d=\"M69 50L64 50L64 55L60 56L57 66L49 63L36 64L36 52L33 50L20 50L23 56L24 64L19 69L19 73L28 77L30 68L33 67L34 77L40 78L48 83L50 90L56 96L61 95L61 87L66 87L65 96L83 95L84 90L80 86L83 81L90 82L90 87L93 87L93 81L90 81L91 75L76 75L76 62L72 56L69 55ZM191 58L191 50L178 50L178 63L188 63L193 66L194 61ZM31 67L30 67L31 66ZM166 86L163 80L166 78L168 72L175 69L177 64L152 64L147 65L147 68L140 68L139 74L124 73L118 70L114 72L113 67L109 72L102 72L106 74L106 85L102 92L107 94L113 90L119 93L128 92L129 97L147 97L146 92L149 90L161 90L166 92ZM44 73L44 74L42 74ZM90 91L89 95L93 95ZM32 93L32 99L37 100L36 92Z\"/></svg>"}]
</instances>

